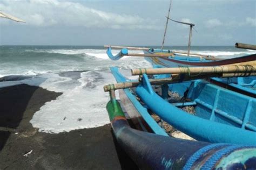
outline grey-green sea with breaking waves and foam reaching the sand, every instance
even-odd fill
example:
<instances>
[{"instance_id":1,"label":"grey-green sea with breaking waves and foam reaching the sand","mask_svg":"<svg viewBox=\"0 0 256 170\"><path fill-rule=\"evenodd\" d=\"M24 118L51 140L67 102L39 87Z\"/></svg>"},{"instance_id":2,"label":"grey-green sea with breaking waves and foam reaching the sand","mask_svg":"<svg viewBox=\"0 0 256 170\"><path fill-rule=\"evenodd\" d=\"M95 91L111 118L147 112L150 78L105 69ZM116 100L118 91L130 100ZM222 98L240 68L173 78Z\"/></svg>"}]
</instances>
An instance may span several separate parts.
<instances>
[{"instance_id":1,"label":"grey-green sea with breaking waves and foam reaching the sand","mask_svg":"<svg viewBox=\"0 0 256 170\"><path fill-rule=\"evenodd\" d=\"M165 46L165 49L187 51L186 46ZM118 52L113 50L114 54ZM255 51L233 46L192 46L191 53L225 59ZM109 94L103 86L115 82L109 69L114 66L129 79L137 79L131 76L131 68L152 67L142 57L124 56L111 61L103 46L0 46L0 88L28 84L63 93L33 115L30 123L41 132L95 128L110 123L105 109Z\"/></svg>"}]
</instances>

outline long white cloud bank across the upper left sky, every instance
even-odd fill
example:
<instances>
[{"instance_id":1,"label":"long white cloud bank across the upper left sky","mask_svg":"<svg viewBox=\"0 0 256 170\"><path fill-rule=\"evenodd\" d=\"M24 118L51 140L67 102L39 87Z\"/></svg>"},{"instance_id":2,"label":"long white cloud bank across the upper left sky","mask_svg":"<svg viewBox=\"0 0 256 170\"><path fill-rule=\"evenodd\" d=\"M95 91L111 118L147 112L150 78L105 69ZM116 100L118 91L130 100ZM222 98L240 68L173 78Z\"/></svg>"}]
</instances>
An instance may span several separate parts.
<instances>
[{"instance_id":1,"label":"long white cloud bank across the upper left sky","mask_svg":"<svg viewBox=\"0 0 256 170\"><path fill-rule=\"evenodd\" d=\"M85 26L112 29L159 29L156 21L138 15L105 12L82 3L58 0L0 2L0 9L22 18L33 26ZM8 22L5 22L8 23Z\"/></svg>"}]
</instances>

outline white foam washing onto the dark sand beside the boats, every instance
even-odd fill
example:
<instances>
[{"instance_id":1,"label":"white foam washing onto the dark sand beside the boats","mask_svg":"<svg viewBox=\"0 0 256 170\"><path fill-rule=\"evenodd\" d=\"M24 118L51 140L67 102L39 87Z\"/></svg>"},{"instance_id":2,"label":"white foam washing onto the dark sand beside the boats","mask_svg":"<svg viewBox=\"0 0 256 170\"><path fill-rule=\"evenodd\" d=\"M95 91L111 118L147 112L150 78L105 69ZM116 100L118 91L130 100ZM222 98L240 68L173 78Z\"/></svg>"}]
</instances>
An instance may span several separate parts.
<instances>
[{"instance_id":1,"label":"white foam washing onto the dark sand beside the boats","mask_svg":"<svg viewBox=\"0 0 256 170\"><path fill-rule=\"evenodd\" d=\"M113 82L110 72L89 71L80 73L78 80L48 73L21 81L0 82L0 87L29 84L62 92L56 100L46 102L30 121L41 132L59 133L110 123L105 109L109 94L103 86Z\"/></svg>"}]
</instances>

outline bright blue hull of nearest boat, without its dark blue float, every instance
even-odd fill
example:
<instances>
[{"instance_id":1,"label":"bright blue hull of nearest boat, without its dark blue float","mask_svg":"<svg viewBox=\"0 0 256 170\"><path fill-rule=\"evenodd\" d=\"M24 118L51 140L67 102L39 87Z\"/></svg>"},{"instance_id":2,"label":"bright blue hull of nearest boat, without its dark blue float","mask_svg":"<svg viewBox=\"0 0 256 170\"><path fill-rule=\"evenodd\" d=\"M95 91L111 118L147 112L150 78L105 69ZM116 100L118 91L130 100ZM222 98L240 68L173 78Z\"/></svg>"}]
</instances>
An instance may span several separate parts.
<instances>
[{"instance_id":1,"label":"bright blue hull of nearest boat, without its dark blue float","mask_svg":"<svg viewBox=\"0 0 256 170\"><path fill-rule=\"evenodd\" d=\"M118 82L127 81L117 68L111 70L116 78L119 77ZM255 98L201 80L190 84L186 82L184 88L177 88L179 83L170 84L169 88L173 86L174 91L177 90L181 95L188 87L187 98L194 103L196 110L195 115L190 115L154 93L146 75L143 80L144 83L136 88L136 94L146 104L146 108L174 128L197 140L211 143L256 144ZM129 89L126 90L126 94L134 96ZM139 102L135 107L145 110ZM144 113L145 121L152 122L146 114Z\"/></svg>"}]
</instances>

